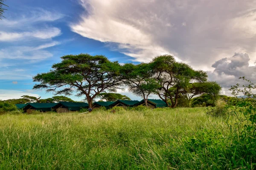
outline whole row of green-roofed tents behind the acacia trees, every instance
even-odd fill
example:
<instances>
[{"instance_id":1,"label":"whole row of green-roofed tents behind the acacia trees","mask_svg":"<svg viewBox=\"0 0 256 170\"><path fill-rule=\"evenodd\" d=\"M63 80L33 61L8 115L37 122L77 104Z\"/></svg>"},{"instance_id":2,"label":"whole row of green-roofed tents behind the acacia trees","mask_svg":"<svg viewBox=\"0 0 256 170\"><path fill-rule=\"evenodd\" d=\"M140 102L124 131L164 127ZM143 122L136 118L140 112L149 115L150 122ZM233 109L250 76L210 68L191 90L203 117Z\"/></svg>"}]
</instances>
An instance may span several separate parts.
<instances>
[{"instance_id":1,"label":"whole row of green-roofed tents behind the acacia trees","mask_svg":"<svg viewBox=\"0 0 256 170\"><path fill-rule=\"evenodd\" d=\"M145 101L126 101L126 100L117 100L117 101L96 101L92 105L92 109L99 109L105 107L106 109L111 109L113 107L136 107L139 105L145 106ZM18 109L22 109L24 112L31 113L35 110L41 112L55 111L58 113L70 112L70 111L79 111L81 109L88 109L89 105L83 102L65 102L61 101L58 103L27 103L27 104L16 104ZM168 107L167 104L159 99L148 99L148 107L162 108Z\"/></svg>"}]
</instances>

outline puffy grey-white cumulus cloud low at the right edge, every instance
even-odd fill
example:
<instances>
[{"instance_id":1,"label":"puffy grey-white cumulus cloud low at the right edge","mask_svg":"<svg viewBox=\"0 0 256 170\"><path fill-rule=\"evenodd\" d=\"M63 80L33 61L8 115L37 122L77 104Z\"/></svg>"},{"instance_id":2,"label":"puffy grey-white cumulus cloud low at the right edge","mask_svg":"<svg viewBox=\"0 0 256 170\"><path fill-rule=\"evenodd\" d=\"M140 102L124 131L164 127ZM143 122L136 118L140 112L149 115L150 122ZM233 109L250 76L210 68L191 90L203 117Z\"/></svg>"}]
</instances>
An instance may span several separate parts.
<instances>
[{"instance_id":1,"label":"puffy grey-white cumulus cloud low at the right edge","mask_svg":"<svg viewBox=\"0 0 256 170\"><path fill-rule=\"evenodd\" d=\"M233 57L222 58L212 64L215 68L213 72L208 72L209 79L217 81L225 94L229 94L228 89L237 83L244 84L239 77L245 76L252 82L256 82L256 66L249 65L250 58L246 53L235 53Z\"/></svg>"}]
</instances>

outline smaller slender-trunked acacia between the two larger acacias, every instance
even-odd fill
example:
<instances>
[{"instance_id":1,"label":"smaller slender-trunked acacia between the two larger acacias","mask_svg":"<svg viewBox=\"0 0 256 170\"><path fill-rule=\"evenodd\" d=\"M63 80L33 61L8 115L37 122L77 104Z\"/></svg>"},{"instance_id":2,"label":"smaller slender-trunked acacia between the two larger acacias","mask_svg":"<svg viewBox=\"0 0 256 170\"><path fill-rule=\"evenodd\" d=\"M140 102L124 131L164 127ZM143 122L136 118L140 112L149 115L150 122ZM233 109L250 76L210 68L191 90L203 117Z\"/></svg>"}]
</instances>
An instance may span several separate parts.
<instances>
[{"instance_id":1,"label":"smaller slender-trunked acacia between the two larger acacias","mask_svg":"<svg viewBox=\"0 0 256 170\"><path fill-rule=\"evenodd\" d=\"M122 78L130 92L143 97L145 105L148 106L148 96L159 88L158 81L153 79L150 63L135 65L126 63L122 67Z\"/></svg>"}]
</instances>

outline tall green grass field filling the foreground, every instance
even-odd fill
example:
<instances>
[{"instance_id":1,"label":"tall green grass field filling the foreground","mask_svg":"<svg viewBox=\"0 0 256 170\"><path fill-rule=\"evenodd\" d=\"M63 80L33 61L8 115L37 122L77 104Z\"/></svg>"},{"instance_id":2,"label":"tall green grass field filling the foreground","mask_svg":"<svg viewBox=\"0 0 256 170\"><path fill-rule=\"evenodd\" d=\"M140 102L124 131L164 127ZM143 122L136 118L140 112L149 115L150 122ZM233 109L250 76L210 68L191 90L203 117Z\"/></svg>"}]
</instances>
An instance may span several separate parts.
<instances>
[{"instance_id":1,"label":"tall green grass field filling the foreground","mask_svg":"<svg viewBox=\"0 0 256 170\"><path fill-rule=\"evenodd\" d=\"M0 169L172 170L252 165L232 152L233 134L225 119L205 112L205 108L177 108L0 115Z\"/></svg>"}]
</instances>

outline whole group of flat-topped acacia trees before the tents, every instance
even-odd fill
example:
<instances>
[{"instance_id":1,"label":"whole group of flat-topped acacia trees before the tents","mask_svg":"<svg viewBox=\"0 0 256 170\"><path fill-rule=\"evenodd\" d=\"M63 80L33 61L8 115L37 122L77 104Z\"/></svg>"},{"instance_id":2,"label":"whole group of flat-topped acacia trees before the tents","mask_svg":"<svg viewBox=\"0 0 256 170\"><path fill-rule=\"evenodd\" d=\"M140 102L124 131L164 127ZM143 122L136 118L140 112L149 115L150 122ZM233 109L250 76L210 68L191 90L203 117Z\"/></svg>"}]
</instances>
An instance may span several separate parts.
<instances>
[{"instance_id":1,"label":"whole group of flat-topped acacia trees before the tents","mask_svg":"<svg viewBox=\"0 0 256 170\"><path fill-rule=\"evenodd\" d=\"M148 96L155 94L172 108L181 98L190 101L203 94L214 97L221 91L215 81L207 81L206 72L177 62L172 55L157 56L149 63L124 65L103 55L65 55L61 59L49 72L33 77L33 81L39 82L33 89L46 89L55 95L84 95L89 107L100 93L125 87L141 96L145 104Z\"/></svg>"}]
</instances>

